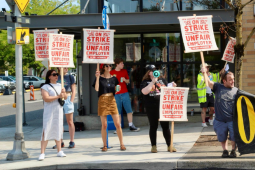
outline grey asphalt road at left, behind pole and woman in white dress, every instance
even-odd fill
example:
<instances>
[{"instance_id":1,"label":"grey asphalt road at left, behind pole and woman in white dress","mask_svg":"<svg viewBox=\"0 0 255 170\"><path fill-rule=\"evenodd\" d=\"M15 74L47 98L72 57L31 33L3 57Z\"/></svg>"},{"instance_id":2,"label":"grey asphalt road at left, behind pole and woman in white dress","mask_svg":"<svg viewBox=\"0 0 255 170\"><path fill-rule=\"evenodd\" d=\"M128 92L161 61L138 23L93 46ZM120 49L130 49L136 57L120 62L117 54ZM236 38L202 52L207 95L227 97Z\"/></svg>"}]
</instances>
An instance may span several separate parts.
<instances>
[{"instance_id":1,"label":"grey asphalt road at left, behind pole and woman in white dress","mask_svg":"<svg viewBox=\"0 0 255 170\"><path fill-rule=\"evenodd\" d=\"M40 91L35 91L35 99L35 101L28 101L29 93L25 93L26 123L30 125L30 122L34 123L35 120L38 120L36 123L38 126L42 126L43 100ZM0 127L15 125L16 108L12 107L13 102L14 95L0 96ZM74 100L74 110L74 115L77 115L77 98ZM66 120L64 122L66 123Z\"/></svg>"}]
</instances>

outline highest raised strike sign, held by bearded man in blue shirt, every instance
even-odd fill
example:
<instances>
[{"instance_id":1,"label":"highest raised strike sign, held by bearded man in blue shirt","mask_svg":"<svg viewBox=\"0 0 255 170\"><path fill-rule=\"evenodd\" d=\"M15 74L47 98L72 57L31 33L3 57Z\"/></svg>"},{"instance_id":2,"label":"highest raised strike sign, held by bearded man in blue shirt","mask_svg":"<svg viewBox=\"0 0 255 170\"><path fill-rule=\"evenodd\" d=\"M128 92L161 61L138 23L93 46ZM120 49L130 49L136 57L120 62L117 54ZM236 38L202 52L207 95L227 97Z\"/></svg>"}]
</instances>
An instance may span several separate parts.
<instances>
[{"instance_id":1,"label":"highest raised strike sign, held by bearded man in blue shirt","mask_svg":"<svg viewBox=\"0 0 255 170\"><path fill-rule=\"evenodd\" d=\"M215 42L212 16L178 17L185 53L218 50Z\"/></svg>"}]
</instances>

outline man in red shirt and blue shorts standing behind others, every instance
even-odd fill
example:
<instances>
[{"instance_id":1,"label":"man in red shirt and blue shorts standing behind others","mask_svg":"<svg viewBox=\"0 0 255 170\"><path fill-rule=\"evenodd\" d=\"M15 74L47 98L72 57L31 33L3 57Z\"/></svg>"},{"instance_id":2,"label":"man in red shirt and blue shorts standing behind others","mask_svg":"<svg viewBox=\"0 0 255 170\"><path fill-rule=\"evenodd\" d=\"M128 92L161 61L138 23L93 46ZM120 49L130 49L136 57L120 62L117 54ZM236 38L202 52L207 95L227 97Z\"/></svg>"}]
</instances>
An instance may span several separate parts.
<instances>
[{"instance_id":1,"label":"man in red shirt and blue shorts standing behind others","mask_svg":"<svg viewBox=\"0 0 255 170\"><path fill-rule=\"evenodd\" d=\"M121 58L116 58L114 60L115 63L115 70L112 70L110 73L111 75L115 76L120 85L120 91L115 94L115 100L117 103L119 114L121 114L122 111L122 105L127 113L128 118L128 124L129 129L131 131L137 132L140 130L140 128L135 127L133 124L133 110L131 107L131 101L127 89L127 84L129 83L129 76L126 69L123 69L124 63ZM121 116L120 116L120 122L121 122ZM115 132L114 132L115 133Z\"/></svg>"}]
</instances>

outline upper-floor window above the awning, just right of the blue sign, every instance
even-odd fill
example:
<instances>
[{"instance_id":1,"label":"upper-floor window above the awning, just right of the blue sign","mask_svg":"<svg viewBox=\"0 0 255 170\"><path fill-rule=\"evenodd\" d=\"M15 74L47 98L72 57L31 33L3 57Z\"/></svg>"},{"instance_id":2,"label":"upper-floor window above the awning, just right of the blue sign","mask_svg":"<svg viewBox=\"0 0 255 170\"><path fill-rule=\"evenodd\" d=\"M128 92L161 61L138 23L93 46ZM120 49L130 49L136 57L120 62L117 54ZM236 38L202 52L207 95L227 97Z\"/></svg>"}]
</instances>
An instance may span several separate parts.
<instances>
[{"instance_id":1,"label":"upper-floor window above the awning, just right of the blue sign","mask_svg":"<svg viewBox=\"0 0 255 170\"><path fill-rule=\"evenodd\" d=\"M140 12L140 0L104 0L107 13Z\"/></svg>"}]
</instances>

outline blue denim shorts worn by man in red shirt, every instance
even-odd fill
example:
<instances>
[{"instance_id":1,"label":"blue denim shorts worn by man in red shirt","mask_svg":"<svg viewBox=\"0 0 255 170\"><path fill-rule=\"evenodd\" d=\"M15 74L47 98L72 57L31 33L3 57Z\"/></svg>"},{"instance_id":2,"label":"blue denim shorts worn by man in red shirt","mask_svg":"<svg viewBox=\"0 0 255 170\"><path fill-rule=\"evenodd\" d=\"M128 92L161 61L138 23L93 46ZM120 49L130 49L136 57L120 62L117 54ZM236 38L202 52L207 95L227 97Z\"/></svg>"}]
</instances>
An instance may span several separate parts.
<instances>
[{"instance_id":1,"label":"blue denim shorts worn by man in red shirt","mask_svg":"<svg viewBox=\"0 0 255 170\"><path fill-rule=\"evenodd\" d=\"M121 114L122 105L124 106L126 113L133 113L128 92L122 94L115 94L115 100L117 103L119 114Z\"/></svg>"}]
</instances>

